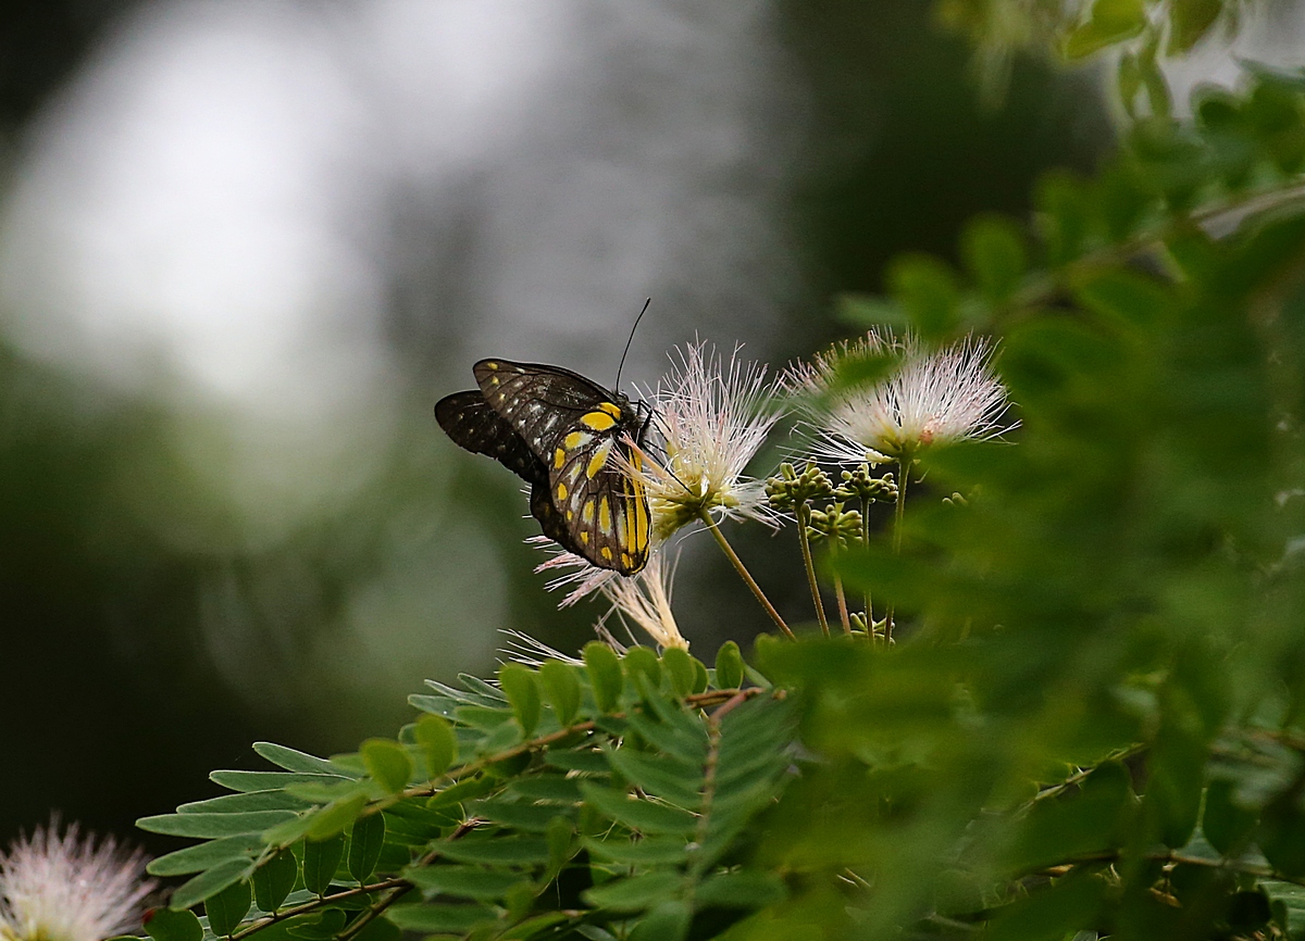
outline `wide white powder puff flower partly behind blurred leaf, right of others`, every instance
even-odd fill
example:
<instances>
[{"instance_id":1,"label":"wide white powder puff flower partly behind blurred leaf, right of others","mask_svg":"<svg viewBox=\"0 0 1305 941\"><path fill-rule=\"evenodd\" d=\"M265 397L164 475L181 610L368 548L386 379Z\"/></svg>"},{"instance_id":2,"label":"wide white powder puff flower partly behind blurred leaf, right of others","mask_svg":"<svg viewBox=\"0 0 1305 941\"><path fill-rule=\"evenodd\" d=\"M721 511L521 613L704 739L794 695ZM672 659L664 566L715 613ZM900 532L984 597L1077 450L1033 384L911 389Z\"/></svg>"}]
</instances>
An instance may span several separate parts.
<instances>
[{"instance_id":1,"label":"wide white powder puff flower partly behind blurred leaf, right of others","mask_svg":"<svg viewBox=\"0 0 1305 941\"><path fill-rule=\"evenodd\" d=\"M910 461L929 444L994 438L1017 426L1004 422L1006 387L992 369L993 347L967 336L938 351L917 338L893 340L870 332L790 374L788 386L822 396L814 450L839 464ZM838 388L847 357L889 356L897 362L878 382Z\"/></svg>"}]
</instances>

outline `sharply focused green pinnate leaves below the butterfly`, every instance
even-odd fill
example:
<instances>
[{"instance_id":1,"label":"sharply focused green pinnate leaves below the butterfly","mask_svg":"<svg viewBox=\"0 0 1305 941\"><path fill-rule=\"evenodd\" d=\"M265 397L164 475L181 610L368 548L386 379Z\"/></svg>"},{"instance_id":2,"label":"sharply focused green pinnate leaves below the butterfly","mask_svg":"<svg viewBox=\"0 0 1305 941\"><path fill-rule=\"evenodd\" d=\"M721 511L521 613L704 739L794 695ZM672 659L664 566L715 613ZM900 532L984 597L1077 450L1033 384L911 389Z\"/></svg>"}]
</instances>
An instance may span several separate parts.
<instances>
[{"instance_id":1,"label":"sharply focused green pinnate leaves below the butterfly","mask_svg":"<svg viewBox=\"0 0 1305 941\"><path fill-rule=\"evenodd\" d=\"M151 864L191 878L146 931L715 936L787 891L750 860L790 777L793 709L743 683L732 644L709 670L684 650L594 643L583 665L431 682L411 697L416 722L354 755L260 743L279 770L214 772L232 794L138 821L205 841Z\"/></svg>"}]
</instances>

